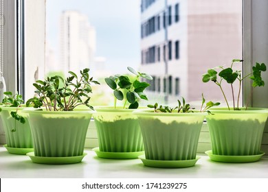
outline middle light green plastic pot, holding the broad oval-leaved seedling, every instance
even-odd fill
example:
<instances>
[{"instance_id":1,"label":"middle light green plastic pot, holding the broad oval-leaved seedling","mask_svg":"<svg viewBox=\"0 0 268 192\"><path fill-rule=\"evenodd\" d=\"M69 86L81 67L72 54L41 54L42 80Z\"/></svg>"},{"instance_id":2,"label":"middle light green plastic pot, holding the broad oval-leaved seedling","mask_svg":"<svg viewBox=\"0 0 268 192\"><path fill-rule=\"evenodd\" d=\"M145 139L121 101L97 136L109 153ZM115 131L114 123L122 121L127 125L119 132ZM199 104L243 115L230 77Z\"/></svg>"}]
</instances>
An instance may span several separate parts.
<instances>
[{"instance_id":1,"label":"middle light green plastic pot, holding the broad oval-leaved seedling","mask_svg":"<svg viewBox=\"0 0 268 192\"><path fill-rule=\"evenodd\" d=\"M142 152L142 133L131 109L95 107L93 117L98 133L100 152Z\"/></svg>"}]
</instances>

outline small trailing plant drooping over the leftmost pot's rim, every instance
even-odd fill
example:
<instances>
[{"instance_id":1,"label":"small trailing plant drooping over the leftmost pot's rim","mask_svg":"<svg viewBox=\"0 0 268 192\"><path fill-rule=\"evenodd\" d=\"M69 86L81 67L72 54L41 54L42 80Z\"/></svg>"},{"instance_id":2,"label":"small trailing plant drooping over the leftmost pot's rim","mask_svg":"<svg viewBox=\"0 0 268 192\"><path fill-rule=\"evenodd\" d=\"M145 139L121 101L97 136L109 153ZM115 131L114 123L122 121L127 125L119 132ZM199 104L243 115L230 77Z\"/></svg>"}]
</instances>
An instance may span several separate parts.
<instances>
[{"instance_id":1,"label":"small trailing plant drooping over the leftmost pot's rim","mask_svg":"<svg viewBox=\"0 0 268 192\"><path fill-rule=\"evenodd\" d=\"M19 94L12 94L12 92L4 92L5 98L3 98L2 106L3 107L14 107L16 108L16 111L10 112L11 117L15 119L15 128L12 129L12 132L16 131L16 121L19 121L21 123L25 123L25 118L18 114L19 107L21 107L21 104L23 104L22 96ZM0 108L1 112L1 108Z\"/></svg>"}]
</instances>

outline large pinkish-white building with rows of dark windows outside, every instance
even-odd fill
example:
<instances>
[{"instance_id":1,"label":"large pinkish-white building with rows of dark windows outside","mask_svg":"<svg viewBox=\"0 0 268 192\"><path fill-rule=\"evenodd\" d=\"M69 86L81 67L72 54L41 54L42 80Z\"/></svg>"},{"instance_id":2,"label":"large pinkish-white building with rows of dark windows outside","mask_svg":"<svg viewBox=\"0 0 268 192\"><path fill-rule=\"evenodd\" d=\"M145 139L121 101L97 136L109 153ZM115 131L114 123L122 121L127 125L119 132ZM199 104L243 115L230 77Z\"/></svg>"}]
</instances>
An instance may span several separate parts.
<instances>
[{"instance_id":1,"label":"large pinkish-white building with rows of dark windows outside","mask_svg":"<svg viewBox=\"0 0 268 192\"><path fill-rule=\"evenodd\" d=\"M179 96L201 100L201 93L208 99L223 100L215 84L202 82L202 74L242 58L242 2L141 2L140 71L153 75L150 94L168 102ZM223 88L230 93L229 86Z\"/></svg>"}]
</instances>

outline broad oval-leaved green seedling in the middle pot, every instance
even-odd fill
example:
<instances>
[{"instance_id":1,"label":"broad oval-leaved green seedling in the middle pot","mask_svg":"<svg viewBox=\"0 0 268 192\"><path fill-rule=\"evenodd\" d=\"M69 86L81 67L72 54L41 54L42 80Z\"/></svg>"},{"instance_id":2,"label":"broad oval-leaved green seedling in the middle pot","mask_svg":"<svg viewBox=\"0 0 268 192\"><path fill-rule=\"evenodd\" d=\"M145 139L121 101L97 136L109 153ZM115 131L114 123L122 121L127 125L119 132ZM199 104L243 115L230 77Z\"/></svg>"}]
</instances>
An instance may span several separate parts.
<instances>
[{"instance_id":1,"label":"broad oval-leaved green seedling in the middle pot","mask_svg":"<svg viewBox=\"0 0 268 192\"><path fill-rule=\"evenodd\" d=\"M144 94L144 90L150 86L150 84L140 82L139 78L144 77L147 80L153 80L153 77L146 73L135 71L135 69L131 67L127 67L127 69L135 75L135 80L131 80L126 75L115 75L105 78L107 85L113 89L114 108L116 108L117 100L124 100L123 108L126 107L126 102L129 101L129 109L138 108L139 99L148 100L147 96Z\"/></svg>"}]
</instances>

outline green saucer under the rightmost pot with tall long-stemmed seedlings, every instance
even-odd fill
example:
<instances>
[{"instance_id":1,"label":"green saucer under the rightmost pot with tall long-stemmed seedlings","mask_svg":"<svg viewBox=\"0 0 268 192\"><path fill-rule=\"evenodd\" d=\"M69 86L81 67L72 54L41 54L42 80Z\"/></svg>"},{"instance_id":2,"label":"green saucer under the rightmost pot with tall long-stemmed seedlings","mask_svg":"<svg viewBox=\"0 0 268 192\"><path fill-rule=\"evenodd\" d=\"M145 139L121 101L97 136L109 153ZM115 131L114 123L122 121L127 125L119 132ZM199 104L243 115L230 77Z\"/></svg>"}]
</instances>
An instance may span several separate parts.
<instances>
[{"instance_id":1,"label":"green saucer under the rightmost pot with tall long-stemmed seedlings","mask_svg":"<svg viewBox=\"0 0 268 192\"><path fill-rule=\"evenodd\" d=\"M260 158L265 154L264 152L260 152L258 155L252 156L224 156L224 155L215 155L212 154L212 150L206 151L211 160L224 162L224 163L251 163L260 160Z\"/></svg>"}]
</instances>

